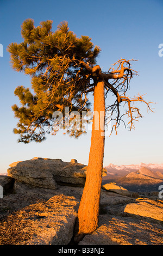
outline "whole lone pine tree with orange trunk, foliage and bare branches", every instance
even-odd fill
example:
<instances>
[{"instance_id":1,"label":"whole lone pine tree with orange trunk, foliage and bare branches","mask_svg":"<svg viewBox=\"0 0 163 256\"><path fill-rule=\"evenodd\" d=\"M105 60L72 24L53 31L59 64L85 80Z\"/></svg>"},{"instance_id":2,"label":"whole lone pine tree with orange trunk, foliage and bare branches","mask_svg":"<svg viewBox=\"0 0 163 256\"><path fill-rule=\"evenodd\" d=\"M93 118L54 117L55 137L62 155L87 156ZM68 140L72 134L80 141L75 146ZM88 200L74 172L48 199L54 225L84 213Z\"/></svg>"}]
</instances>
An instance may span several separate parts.
<instances>
[{"instance_id":1,"label":"whole lone pine tree with orange trunk, foliage and bare branches","mask_svg":"<svg viewBox=\"0 0 163 256\"><path fill-rule=\"evenodd\" d=\"M93 45L89 36L78 38L69 31L67 22L61 22L52 32L52 23L47 20L35 27L34 21L27 19L21 27L23 42L8 46L12 68L31 77L33 90L30 92L23 86L15 89L21 106L12 106L19 119L14 133L20 135L18 142L41 142L46 133L55 135L60 129L61 122L57 115L53 115L55 111L62 113L65 123L65 107L69 113L78 111L82 117L83 111L91 110L88 95L93 94L93 113L96 117L98 113L99 118L93 115L89 164L77 218L76 241L79 241L98 225L106 111L110 113L111 132L117 133L121 121L126 122L125 117L129 118L129 129L134 128L134 121L142 117L140 108L134 103L143 102L151 110L151 102L146 102L140 94L135 97L126 95L131 78L137 74L131 69L133 59L119 59L109 71L103 72L96 64L101 49ZM108 95L114 100L109 99L107 105ZM85 133L82 124L77 129L77 122L72 122L76 114L69 117L70 126L66 132L76 138Z\"/></svg>"}]
</instances>

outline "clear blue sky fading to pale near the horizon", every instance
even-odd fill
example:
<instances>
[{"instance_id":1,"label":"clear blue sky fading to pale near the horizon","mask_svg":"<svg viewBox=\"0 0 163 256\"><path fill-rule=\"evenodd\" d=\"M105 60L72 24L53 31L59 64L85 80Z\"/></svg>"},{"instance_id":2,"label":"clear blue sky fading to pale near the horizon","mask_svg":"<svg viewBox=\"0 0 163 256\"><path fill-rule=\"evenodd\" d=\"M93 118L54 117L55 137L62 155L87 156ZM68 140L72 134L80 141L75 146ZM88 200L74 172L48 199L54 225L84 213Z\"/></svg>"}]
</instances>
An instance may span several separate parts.
<instances>
[{"instance_id":1,"label":"clear blue sky fading to pale near the horizon","mask_svg":"<svg viewBox=\"0 0 163 256\"><path fill-rule=\"evenodd\" d=\"M87 164L89 159L91 131L79 139L70 138L59 132L47 136L42 143L17 143L12 132L17 120L11 106L18 103L14 96L17 86L30 87L30 78L11 69L9 53L11 42L22 41L21 24L27 18L35 21L53 20L53 31L61 21L77 36L89 35L102 51L97 64L108 71L118 59L137 59L133 69L139 71L130 83L128 95L146 94L147 101L157 102L155 113L147 114L142 105L144 118L128 131L122 125L118 135L105 139L104 166L114 164L162 163L163 153L163 57L159 57L159 44L163 44L163 1L162 0L1 0L0 1L0 104L1 104L1 164L0 173L6 172L9 164L33 157L49 157Z\"/></svg>"}]
</instances>

